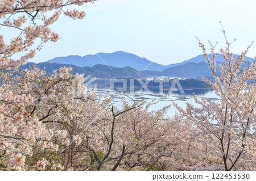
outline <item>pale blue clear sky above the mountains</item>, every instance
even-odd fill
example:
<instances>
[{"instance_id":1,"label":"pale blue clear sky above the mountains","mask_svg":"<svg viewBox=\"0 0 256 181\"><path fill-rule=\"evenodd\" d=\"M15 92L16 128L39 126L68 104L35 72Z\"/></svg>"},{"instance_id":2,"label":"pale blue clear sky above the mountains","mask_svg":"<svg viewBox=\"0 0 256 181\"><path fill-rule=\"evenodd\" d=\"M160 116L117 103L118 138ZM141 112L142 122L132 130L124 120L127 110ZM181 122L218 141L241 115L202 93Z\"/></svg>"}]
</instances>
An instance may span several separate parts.
<instances>
[{"instance_id":1,"label":"pale blue clear sky above the mountains","mask_svg":"<svg viewBox=\"0 0 256 181\"><path fill-rule=\"evenodd\" d=\"M220 21L228 39L237 39L231 52L239 54L256 40L255 7L254 0L98 0L78 7L86 13L82 20L61 15L65 23L51 26L61 39L44 44L30 61L122 50L174 64L202 54L195 36L208 50L208 40L217 41L219 53L225 46ZM255 44L247 56L256 56Z\"/></svg>"}]
</instances>

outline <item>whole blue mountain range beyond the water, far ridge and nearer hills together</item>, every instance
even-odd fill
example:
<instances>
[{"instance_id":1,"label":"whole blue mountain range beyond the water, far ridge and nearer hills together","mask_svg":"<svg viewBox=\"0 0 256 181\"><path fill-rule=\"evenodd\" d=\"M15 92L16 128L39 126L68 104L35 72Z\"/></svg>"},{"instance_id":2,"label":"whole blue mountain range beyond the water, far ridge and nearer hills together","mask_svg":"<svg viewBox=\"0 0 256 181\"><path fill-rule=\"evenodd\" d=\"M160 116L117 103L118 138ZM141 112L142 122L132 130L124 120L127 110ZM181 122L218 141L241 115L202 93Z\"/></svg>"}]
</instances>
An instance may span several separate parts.
<instances>
[{"instance_id":1,"label":"whole blue mountain range beyond the water, far ridge and nearer hills together","mask_svg":"<svg viewBox=\"0 0 256 181\"><path fill-rule=\"evenodd\" d=\"M110 67L105 65L104 61L98 56L100 56ZM187 61L170 65L160 65L155 62L151 63L151 61L146 58L122 51L114 53L98 53L98 56L96 54L84 57L56 57L46 62L40 62L39 64L36 64L36 66L40 69L46 68L45 70L47 74L51 74L52 70L59 69L62 66L72 66L72 74L85 73L98 78L144 78L154 77L154 74L156 74L156 77L182 77L182 73L184 78L196 78L201 77L201 75L211 75L203 54ZM237 57L238 55L234 56ZM222 54L217 54L216 62L223 61ZM253 58L245 57L245 61L253 62ZM28 62L26 65L20 66L20 69L29 68L29 66L33 64L35 63ZM148 68L144 70L147 66ZM242 66L242 68L245 67L246 65ZM218 67L217 73L219 73Z\"/></svg>"}]
</instances>

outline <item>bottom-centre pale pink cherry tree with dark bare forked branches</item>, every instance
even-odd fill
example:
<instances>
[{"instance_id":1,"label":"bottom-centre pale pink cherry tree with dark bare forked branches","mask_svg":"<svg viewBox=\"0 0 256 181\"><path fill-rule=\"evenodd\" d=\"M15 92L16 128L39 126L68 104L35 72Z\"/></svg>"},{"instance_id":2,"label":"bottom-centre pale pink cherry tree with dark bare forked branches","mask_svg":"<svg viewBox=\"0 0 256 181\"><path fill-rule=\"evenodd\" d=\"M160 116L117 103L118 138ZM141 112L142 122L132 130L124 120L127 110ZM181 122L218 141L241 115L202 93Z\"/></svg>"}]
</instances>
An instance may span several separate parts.
<instances>
[{"instance_id":1,"label":"bottom-centre pale pink cherry tree with dark bare forked branches","mask_svg":"<svg viewBox=\"0 0 256 181\"><path fill-rule=\"evenodd\" d=\"M168 151L181 145L181 135L188 135L184 125L166 117L168 107L148 111L152 103L130 105L123 100L123 107L117 109L109 103L104 106L108 110L93 121L88 131L80 134L83 141L77 151L84 151L83 161L90 163L84 169L164 169L160 159L168 159Z\"/></svg>"}]
</instances>

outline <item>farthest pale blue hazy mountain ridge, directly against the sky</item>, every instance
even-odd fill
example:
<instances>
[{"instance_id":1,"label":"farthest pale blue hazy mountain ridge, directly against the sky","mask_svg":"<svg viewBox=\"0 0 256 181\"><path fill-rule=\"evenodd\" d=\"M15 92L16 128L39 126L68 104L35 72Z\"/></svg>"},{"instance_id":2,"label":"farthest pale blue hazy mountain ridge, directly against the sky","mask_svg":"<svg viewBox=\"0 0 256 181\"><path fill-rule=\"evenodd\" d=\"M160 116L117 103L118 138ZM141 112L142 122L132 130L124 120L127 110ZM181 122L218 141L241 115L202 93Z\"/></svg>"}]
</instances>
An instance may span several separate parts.
<instances>
[{"instance_id":1,"label":"farthest pale blue hazy mountain ridge, directly against the sky","mask_svg":"<svg viewBox=\"0 0 256 181\"><path fill-rule=\"evenodd\" d=\"M199 63L199 62L206 62L203 54L200 54L199 56L193 57L189 60L176 63L176 64L170 64L170 65L160 65L156 64L155 62L152 62L150 60L147 60L147 58L139 57L132 53L127 52L114 52L114 53L98 53L98 54L89 54L84 57L81 56L67 56L67 57L56 57L52 60L49 60L49 62L54 62L56 64L67 64L67 65L76 65L80 67L89 66L92 67L94 65L102 64L105 65L105 62L101 60L104 60L106 64L109 66L114 66L115 68L124 68L126 66L130 66L131 68L134 68L136 70L151 70L154 71L163 71L168 68L172 68L179 65L184 65L187 63ZM235 57L238 57L238 55L234 55ZM209 58L211 55L208 56ZM245 60L252 62L253 59L250 57L245 57ZM224 59L222 57L222 54L217 53L216 61L223 62ZM148 66L150 65L150 66ZM193 64L192 64L193 65ZM147 67L148 66L148 67Z\"/></svg>"}]
</instances>

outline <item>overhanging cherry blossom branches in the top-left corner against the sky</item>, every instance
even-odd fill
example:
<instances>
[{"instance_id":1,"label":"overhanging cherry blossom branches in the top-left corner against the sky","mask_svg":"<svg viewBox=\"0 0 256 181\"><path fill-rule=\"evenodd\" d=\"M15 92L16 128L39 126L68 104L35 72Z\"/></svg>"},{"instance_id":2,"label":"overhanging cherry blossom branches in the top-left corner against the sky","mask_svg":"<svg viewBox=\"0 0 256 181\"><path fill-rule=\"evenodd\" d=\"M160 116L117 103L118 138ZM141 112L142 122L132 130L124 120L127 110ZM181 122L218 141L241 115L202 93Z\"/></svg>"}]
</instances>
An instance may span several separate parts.
<instances>
[{"instance_id":1,"label":"overhanging cherry blossom branches in the top-left corner against the sky","mask_svg":"<svg viewBox=\"0 0 256 181\"><path fill-rule=\"evenodd\" d=\"M61 12L72 19L82 19L84 11L67 7L82 6L94 0L2 0L0 1L0 28L14 28L19 35L5 40L0 33L0 69L17 68L35 56L47 41L57 41L59 35L49 26L55 23ZM39 42L39 44L37 44ZM14 59L17 53L23 53Z\"/></svg>"}]
</instances>

